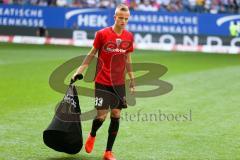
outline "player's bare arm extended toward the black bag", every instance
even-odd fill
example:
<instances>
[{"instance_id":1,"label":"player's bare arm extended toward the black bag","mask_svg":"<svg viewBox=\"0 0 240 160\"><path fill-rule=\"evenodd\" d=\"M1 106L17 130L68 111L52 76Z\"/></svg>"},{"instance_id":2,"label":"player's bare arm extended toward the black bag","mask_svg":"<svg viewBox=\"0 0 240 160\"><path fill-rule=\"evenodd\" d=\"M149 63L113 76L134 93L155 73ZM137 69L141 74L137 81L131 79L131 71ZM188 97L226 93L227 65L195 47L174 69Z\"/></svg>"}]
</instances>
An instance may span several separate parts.
<instances>
[{"instance_id":1,"label":"player's bare arm extended toward the black bag","mask_svg":"<svg viewBox=\"0 0 240 160\"><path fill-rule=\"evenodd\" d=\"M78 67L77 71L73 74L72 79L75 79L75 77L78 74L82 74L85 71L85 69L89 66L89 64L91 63L92 59L95 57L97 52L98 52L98 49L96 49L95 47L92 47L92 49L89 51L86 58L82 62L81 66Z\"/></svg>"}]
</instances>

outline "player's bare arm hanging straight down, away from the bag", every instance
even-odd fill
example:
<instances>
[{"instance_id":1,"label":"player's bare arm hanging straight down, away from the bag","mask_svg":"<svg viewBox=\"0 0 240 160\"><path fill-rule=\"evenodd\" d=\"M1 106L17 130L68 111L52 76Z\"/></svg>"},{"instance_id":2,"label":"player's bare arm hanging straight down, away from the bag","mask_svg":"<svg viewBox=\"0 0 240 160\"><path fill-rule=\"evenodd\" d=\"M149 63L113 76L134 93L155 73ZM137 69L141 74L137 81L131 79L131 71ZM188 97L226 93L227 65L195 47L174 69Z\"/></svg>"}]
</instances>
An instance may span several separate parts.
<instances>
[{"instance_id":1,"label":"player's bare arm hanging straight down, away from the bag","mask_svg":"<svg viewBox=\"0 0 240 160\"><path fill-rule=\"evenodd\" d=\"M130 79L129 89L131 94L135 93L135 80L134 80L134 74L132 69L132 57L131 53L127 54L127 65L126 65L127 74Z\"/></svg>"}]
</instances>

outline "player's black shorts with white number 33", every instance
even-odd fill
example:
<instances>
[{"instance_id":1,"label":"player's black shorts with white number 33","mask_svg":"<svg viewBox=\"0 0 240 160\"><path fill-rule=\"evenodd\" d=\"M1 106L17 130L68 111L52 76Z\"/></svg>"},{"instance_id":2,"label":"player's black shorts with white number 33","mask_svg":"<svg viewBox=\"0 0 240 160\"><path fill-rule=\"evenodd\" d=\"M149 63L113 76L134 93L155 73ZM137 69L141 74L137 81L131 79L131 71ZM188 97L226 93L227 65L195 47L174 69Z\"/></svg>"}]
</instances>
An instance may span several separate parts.
<instances>
[{"instance_id":1,"label":"player's black shorts with white number 33","mask_svg":"<svg viewBox=\"0 0 240 160\"><path fill-rule=\"evenodd\" d=\"M125 84L106 86L95 83L96 109L122 109L127 108Z\"/></svg>"}]
</instances>

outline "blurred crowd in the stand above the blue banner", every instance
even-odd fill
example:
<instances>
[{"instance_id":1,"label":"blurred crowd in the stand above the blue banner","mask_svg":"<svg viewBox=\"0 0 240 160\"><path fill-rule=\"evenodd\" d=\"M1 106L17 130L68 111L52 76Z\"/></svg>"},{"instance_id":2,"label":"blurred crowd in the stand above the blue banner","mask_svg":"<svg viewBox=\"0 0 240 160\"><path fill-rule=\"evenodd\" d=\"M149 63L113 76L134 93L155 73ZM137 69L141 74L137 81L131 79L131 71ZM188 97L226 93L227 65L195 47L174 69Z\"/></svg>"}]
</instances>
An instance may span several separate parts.
<instances>
[{"instance_id":1,"label":"blurred crowd in the stand above the blue banner","mask_svg":"<svg viewBox=\"0 0 240 160\"><path fill-rule=\"evenodd\" d=\"M240 13L240 0L0 0L0 3L78 8L114 8L125 3L140 11Z\"/></svg>"}]
</instances>

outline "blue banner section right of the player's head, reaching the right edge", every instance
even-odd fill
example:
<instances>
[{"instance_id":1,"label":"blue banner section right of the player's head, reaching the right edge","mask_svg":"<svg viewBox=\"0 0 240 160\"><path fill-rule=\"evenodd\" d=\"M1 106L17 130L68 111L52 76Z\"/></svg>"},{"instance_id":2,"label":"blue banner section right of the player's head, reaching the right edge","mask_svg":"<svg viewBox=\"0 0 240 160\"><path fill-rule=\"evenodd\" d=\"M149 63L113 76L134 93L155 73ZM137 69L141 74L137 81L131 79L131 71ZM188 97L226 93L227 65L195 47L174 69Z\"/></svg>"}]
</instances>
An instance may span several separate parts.
<instances>
[{"instance_id":1,"label":"blue banner section right of the player's head, reaching the right edge","mask_svg":"<svg viewBox=\"0 0 240 160\"><path fill-rule=\"evenodd\" d=\"M128 29L132 32L240 36L240 15L139 12L131 14Z\"/></svg>"}]
</instances>

